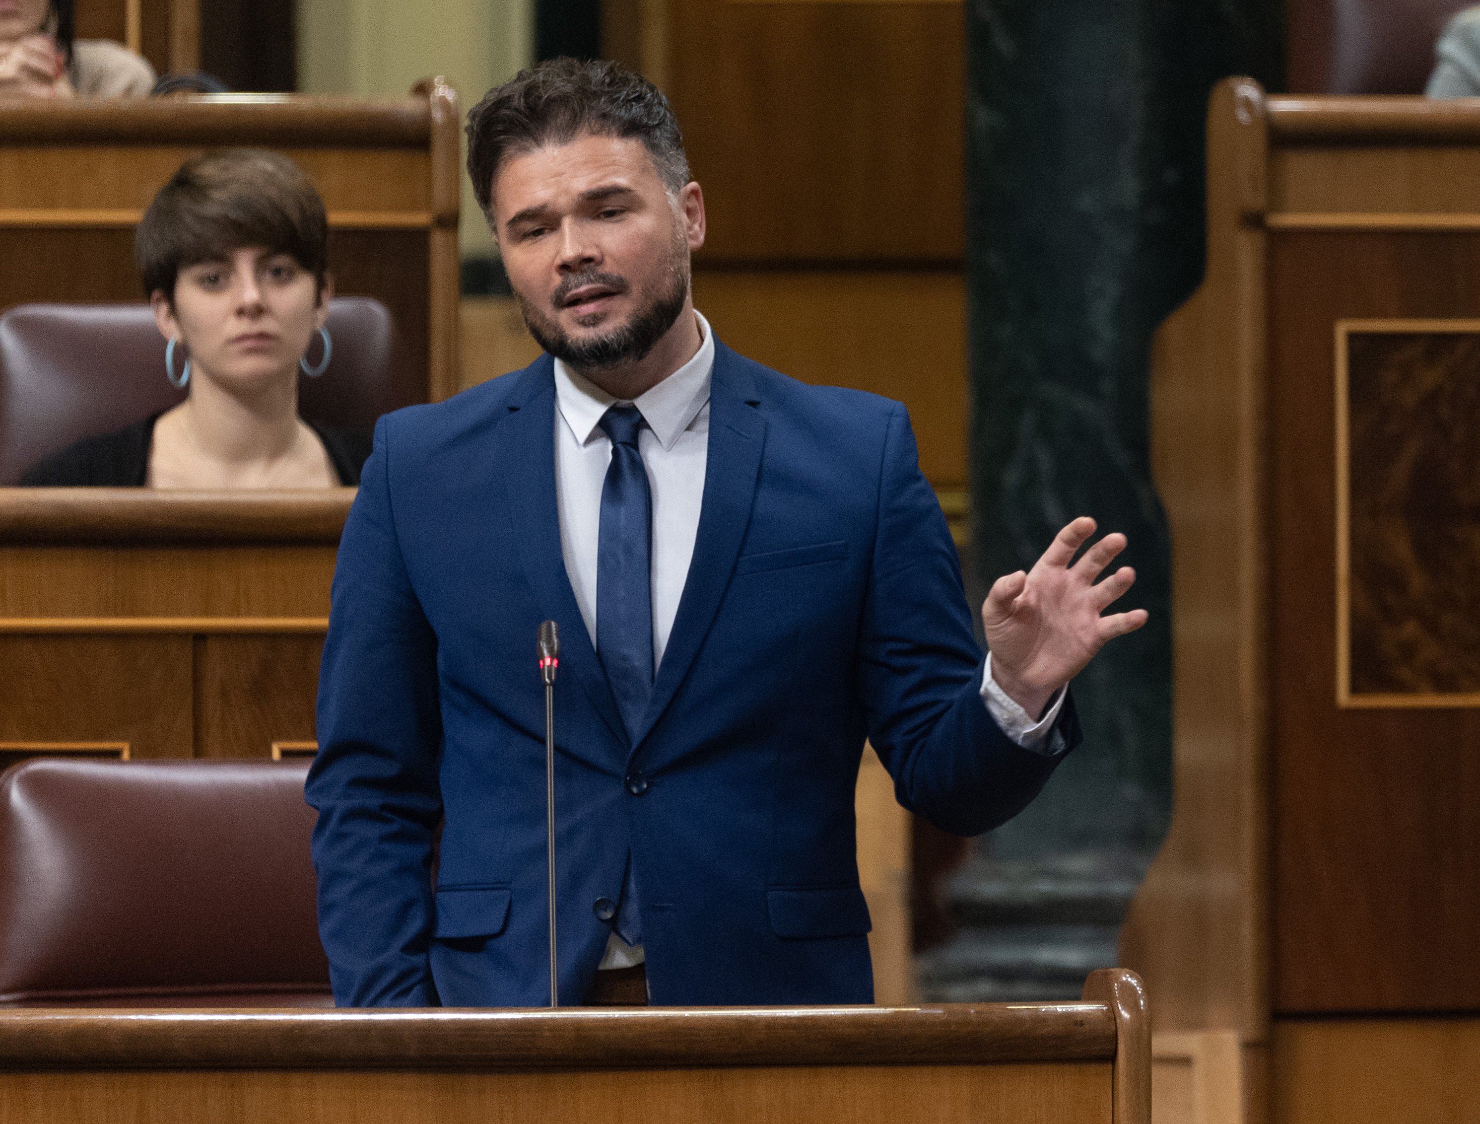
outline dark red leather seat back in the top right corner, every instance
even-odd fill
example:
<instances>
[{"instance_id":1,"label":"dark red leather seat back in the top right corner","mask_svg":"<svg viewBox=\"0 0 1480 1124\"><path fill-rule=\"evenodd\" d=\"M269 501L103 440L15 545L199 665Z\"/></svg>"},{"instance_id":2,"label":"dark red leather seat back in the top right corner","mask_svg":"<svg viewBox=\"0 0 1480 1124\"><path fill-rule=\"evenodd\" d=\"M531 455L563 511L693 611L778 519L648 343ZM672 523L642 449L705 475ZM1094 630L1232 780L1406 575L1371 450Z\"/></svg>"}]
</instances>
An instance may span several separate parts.
<instances>
[{"instance_id":1,"label":"dark red leather seat back in the top right corner","mask_svg":"<svg viewBox=\"0 0 1480 1124\"><path fill-rule=\"evenodd\" d=\"M1295 93L1422 93L1449 16L1474 0L1289 0Z\"/></svg>"}]
</instances>

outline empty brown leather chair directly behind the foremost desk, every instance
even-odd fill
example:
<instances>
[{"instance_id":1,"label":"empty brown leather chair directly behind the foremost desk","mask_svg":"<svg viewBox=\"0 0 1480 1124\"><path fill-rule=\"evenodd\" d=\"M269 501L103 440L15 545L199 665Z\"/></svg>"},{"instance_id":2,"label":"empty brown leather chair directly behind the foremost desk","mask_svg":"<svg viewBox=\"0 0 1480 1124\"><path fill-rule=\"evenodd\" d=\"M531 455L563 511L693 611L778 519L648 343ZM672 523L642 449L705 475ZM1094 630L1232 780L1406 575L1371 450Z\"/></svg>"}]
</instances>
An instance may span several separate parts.
<instances>
[{"instance_id":1,"label":"empty brown leather chair directly behind the foremost desk","mask_svg":"<svg viewBox=\"0 0 1480 1124\"><path fill-rule=\"evenodd\" d=\"M0 775L0 1006L330 1006L306 763Z\"/></svg>"}]
</instances>

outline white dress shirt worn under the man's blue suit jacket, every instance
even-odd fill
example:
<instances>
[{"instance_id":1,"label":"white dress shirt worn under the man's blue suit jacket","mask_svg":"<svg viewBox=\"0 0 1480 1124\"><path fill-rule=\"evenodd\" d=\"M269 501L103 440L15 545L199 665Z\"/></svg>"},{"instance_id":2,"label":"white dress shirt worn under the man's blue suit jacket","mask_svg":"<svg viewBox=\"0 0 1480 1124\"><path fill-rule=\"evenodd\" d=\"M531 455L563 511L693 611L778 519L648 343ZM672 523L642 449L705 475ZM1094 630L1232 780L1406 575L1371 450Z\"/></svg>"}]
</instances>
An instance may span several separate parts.
<instances>
[{"instance_id":1,"label":"white dress shirt worn under the man's blue suit jacket","mask_svg":"<svg viewBox=\"0 0 1480 1124\"><path fill-rule=\"evenodd\" d=\"M699 535L699 509L704 498L704 469L709 462L709 379L715 369L715 336L699 312L703 342L682 367L653 389L638 395L633 406L647 426L638 437L638 450L653 493L653 666L663 662L678 601L688 579ZM596 563L601 527L601 490L611 462L611 441L599 422L607 410L622 401L555 360L555 495L559 505L559 545L565 560L580 618L591 643L596 643ZM992 718L1014 742L1035 752L1063 752L1063 735L1054 729L1064 692L1058 692L1043 715L1033 718L1008 698L992 678L987 656L981 698ZM604 969L642 963L642 946L630 948L616 933L601 960Z\"/></svg>"}]
</instances>

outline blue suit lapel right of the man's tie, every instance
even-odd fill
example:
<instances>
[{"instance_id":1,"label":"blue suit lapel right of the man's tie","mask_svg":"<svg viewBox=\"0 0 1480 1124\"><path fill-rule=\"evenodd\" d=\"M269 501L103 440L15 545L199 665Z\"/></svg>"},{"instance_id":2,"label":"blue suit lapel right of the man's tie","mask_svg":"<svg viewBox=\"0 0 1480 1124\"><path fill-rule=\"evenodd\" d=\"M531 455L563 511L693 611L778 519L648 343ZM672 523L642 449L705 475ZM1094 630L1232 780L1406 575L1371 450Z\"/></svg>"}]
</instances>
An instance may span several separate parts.
<instances>
[{"instance_id":1,"label":"blue suit lapel right of the man's tie","mask_svg":"<svg viewBox=\"0 0 1480 1124\"><path fill-rule=\"evenodd\" d=\"M684 595L678 603L663 663L653 681L653 698L632 739L633 754L688 675L715 613L719 612L740 555L740 543L750 526L761 452L765 447L765 419L753 407L753 401L740 357L716 339L709 389L709 456L694 557L688 564Z\"/></svg>"}]
</instances>

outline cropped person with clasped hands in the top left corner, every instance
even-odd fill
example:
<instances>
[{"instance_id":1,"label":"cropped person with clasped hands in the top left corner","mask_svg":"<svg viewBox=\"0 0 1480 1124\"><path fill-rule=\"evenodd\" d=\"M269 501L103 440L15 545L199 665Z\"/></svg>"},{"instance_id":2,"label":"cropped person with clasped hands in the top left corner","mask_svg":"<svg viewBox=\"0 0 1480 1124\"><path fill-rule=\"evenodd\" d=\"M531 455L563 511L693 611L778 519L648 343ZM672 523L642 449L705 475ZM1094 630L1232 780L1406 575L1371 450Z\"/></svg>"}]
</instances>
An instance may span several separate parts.
<instances>
[{"instance_id":1,"label":"cropped person with clasped hands in the top left corner","mask_svg":"<svg viewBox=\"0 0 1480 1124\"><path fill-rule=\"evenodd\" d=\"M74 0L0 3L0 98L142 98L154 68L121 43L75 39Z\"/></svg>"}]
</instances>

